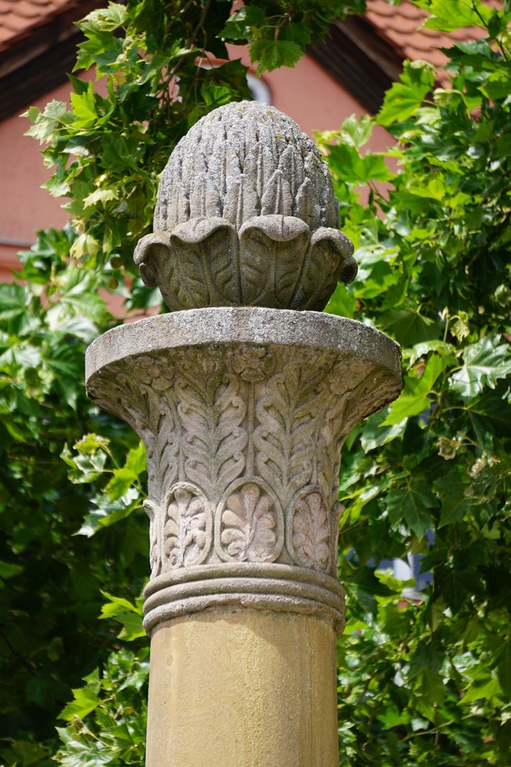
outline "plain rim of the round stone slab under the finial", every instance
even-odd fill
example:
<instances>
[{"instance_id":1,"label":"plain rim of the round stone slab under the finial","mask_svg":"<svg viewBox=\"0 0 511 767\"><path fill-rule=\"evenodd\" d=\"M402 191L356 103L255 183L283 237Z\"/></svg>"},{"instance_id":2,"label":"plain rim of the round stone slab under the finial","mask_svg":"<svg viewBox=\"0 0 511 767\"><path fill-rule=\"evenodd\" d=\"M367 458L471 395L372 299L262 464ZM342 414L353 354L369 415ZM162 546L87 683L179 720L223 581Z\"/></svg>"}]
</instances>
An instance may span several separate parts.
<instances>
[{"instance_id":1,"label":"plain rim of the round stone slab under the finial","mask_svg":"<svg viewBox=\"0 0 511 767\"><path fill-rule=\"evenodd\" d=\"M375 410L394 400L401 391L400 348L375 328L319 311L260 307L188 309L120 325L87 348L85 378L90 384L106 365L139 354L232 344L276 344L338 351L339 356L352 355L354 360L367 360L369 368L385 368L388 398L375 403Z\"/></svg>"}]
</instances>

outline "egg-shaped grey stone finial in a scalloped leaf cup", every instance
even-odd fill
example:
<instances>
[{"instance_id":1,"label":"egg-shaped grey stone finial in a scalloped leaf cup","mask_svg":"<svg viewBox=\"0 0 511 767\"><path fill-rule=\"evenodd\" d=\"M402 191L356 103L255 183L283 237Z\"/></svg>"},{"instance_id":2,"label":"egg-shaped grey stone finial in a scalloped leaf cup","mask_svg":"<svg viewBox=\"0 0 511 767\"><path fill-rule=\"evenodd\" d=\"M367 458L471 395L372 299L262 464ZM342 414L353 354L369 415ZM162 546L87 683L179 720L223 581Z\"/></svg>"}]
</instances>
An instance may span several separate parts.
<instances>
[{"instance_id":1,"label":"egg-shaped grey stone finial in a scalloped leaf cup","mask_svg":"<svg viewBox=\"0 0 511 767\"><path fill-rule=\"evenodd\" d=\"M332 179L290 117L241 101L202 117L162 173L154 233L135 262L171 311L264 306L321 311L357 273Z\"/></svg>"}]
</instances>

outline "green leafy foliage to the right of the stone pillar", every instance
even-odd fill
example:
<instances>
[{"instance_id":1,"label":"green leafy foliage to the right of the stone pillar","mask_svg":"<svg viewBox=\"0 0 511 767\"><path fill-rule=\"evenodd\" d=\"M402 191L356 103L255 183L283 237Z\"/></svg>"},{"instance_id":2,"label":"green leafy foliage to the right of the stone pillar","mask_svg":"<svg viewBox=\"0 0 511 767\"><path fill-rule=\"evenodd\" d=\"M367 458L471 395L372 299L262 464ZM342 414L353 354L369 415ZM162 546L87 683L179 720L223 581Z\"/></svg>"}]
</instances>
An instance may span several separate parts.
<instances>
[{"instance_id":1,"label":"green leafy foliage to the right of the stone pillar","mask_svg":"<svg viewBox=\"0 0 511 767\"><path fill-rule=\"evenodd\" d=\"M361 265L326 311L395 337L405 373L343 453L341 764L507 765L510 14L421 5L427 26L486 28L449 51L452 90L405 65L375 120L398 142L386 157L361 150L368 118L319 137ZM369 169L396 160L391 186L376 184ZM411 556L421 591L377 566Z\"/></svg>"}]
</instances>

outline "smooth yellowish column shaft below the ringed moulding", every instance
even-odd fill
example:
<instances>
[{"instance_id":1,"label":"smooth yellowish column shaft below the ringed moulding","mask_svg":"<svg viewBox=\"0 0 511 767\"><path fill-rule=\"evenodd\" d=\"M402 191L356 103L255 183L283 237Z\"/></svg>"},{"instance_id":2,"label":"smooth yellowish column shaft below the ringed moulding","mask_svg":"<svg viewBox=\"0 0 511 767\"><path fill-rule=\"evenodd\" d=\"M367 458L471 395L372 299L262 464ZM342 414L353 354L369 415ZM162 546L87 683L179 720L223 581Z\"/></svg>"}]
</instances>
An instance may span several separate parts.
<instances>
[{"instance_id":1,"label":"smooth yellowish column shaft below the ringed moulding","mask_svg":"<svg viewBox=\"0 0 511 767\"><path fill-rule=\"evenodd\" d=\"M338 767L337 727L329 624L216 607L153 633L148 767Z\"/></svg>"}]
</instances>

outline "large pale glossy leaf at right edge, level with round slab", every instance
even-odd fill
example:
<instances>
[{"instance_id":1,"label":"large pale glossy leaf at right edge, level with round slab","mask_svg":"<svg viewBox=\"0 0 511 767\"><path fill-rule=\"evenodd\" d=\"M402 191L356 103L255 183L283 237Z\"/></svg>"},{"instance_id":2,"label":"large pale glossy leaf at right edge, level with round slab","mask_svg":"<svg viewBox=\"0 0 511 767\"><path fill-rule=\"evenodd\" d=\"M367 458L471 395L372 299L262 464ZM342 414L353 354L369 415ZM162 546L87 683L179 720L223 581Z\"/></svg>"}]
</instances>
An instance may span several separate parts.
<instances>
[{"instance_id":1,"label":"large pale glossy leaf at right edge, level with round slab","mask_svg":"<svg viewBox=\"0 0 511 767\"><path fill-rule=\"evenodd\" d=\"M509 344L499 344L496 335L470 344L463 353L464 365L450 377L452 390L465 400L477 397L484 387L494 389L497 380L511 374Z\"/></svg>"}]
</instances>

